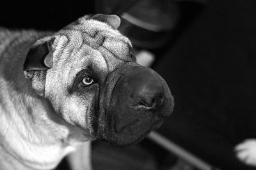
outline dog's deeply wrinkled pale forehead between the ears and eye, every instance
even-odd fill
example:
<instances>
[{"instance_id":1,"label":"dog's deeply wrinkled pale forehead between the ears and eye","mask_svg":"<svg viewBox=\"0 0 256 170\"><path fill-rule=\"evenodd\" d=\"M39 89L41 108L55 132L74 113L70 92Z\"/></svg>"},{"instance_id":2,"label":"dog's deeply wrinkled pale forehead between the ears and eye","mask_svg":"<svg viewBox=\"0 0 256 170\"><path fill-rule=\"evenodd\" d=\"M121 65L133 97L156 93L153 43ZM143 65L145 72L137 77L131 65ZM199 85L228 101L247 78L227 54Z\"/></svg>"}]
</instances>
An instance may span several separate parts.
<instances>
[{"instance_id":1,"label":"dog's deeply wrinkled pale forehead between the ears and eye","mask_svg":"<svg viewBox=\"0 0 256 170\"><path fill-rule=\"evenodd\" d=\"M69 49L73 53L70 53L68 60L104 61L106 63L102 63L102 66L106 65L108 71L112 71L122 62L132 61L132 45L129 39L103 22L88 20L58 34L66 37L66 44L72 43L66 45L73 48Z\"/></svg>"}]
</instances>

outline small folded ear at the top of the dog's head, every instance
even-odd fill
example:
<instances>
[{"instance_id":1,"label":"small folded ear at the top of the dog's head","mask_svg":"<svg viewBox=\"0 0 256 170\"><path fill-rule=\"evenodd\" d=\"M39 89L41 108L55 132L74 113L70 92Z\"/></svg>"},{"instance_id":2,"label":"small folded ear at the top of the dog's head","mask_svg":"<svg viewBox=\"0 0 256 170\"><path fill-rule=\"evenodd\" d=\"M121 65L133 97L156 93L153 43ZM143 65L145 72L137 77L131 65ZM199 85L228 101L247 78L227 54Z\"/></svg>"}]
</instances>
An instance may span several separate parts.
<instances>
[{"instance_id":1,"label":"small folded ear at the top of the dog's head","mask_svg":"<svg viewBox=\"0 0 256 170\"><path fill-rule=\"evenodd\" d=\"M113 29L117 29L121 23L121 20L117 15L97 14L97 15L93 15L90 19L106 22L106 24L113 27Z\"/></svg>"}]
</instances>

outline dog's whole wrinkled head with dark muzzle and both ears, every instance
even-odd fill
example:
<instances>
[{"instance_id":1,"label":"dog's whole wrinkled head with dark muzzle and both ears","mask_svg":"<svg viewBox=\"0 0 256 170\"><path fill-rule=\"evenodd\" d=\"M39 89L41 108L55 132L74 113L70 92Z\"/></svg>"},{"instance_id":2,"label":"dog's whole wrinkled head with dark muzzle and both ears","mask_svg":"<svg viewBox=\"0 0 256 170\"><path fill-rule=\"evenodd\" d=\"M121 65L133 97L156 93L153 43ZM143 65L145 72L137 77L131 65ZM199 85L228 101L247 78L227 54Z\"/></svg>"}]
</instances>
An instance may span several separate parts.
<instances>
[{"instance_id":1,"label":"dog's whole wrinkled head with dark muzzle and both ears","mask_svg":"<svg viewBox=\"0 0 256 170\"><path fill-rule=\"evenodd\" d=\"M79 18L36 41L24 73L68 124L122 146L159 127L174 102L163 78L136 64L119 24L115 15Z\"/></svg>"}]
</instances>

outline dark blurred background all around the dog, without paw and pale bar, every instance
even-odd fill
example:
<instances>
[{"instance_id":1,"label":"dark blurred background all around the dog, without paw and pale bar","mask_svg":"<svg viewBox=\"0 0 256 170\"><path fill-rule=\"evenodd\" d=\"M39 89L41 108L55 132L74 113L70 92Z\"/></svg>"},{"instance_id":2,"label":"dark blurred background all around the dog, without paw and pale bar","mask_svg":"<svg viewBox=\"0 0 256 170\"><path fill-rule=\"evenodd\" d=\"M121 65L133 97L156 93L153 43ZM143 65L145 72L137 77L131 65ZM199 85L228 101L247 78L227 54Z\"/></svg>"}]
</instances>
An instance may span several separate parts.
<instances>
[{"instance_id":1,"label":"dark blurred background all around the dog, without paw and pale bar","mask_svg":"<svg viewBox=\"0 0 256 170\"><path fill-rule=\"evenodd\" d=\"M0 25L57 31L89 13L114 13L138 60L166 80L175 110L157 131L212 169L256 169L234 146L256 138L256 1L3 1ZM100 169L198 169L150 139L93 143ZM64 160L58 169L68 169Z\"/></svg>"}]
</instances>

